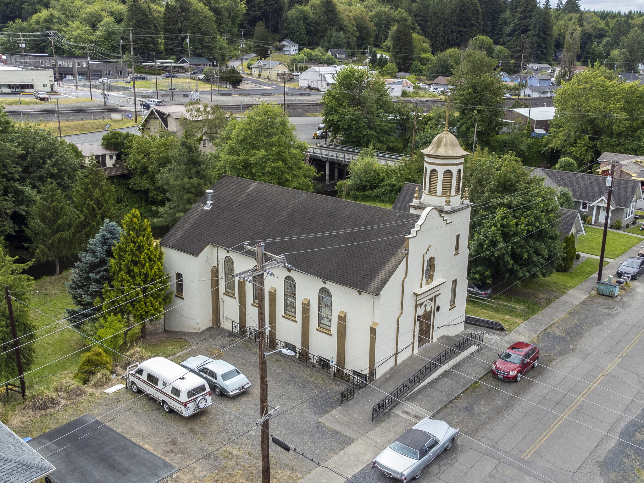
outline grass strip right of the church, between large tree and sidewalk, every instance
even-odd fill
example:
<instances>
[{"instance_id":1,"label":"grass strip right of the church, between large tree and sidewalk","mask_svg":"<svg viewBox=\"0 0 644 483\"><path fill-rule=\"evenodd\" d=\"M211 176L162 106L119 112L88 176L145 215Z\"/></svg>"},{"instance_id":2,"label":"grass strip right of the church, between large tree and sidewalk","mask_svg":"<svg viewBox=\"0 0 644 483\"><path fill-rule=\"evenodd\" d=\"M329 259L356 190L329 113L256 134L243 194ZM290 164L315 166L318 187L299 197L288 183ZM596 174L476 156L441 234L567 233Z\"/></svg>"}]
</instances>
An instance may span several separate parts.
<instances>
[{"instance_id":1,"label":"grass strip right of the church, between large tree and sidewalk","mask_svg":"<svg viewBox=\"0 0 644 483\"><path fill-rule=\"evenodd\" d=\"M605 261L604 266L608 265L608 263ZM523 281L520 287L515 285L502 294L494 296L494 298L498 301L526 307L526 319L529 319L566 294L568 290L573 289L592 276L597 272L599 266L599 260L587 258L570 272L554 272L547 278ZM495 287L497 293L503 289L502 285ZM514 330L523 323L523 314L519 312L506 308L495 308L475 301L468 302L465 312L470 316L498 321L503 324L507 331Z\"/></svg>"}]
</instances>

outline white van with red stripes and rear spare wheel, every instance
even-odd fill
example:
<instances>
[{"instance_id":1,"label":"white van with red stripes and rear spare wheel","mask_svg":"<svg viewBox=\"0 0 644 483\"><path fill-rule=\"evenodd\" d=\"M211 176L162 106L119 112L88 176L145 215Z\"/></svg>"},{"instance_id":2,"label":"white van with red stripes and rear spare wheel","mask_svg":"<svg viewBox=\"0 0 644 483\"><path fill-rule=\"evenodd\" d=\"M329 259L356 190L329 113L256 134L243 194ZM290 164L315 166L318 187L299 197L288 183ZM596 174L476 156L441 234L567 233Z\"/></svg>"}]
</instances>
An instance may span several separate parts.
<instances>
[{"instance_id":1,"label":"white van with red stripes and rear spare wheel","mask_svg":"<svg viewBox=\"0 0 644 483\"><path fill-rule=\"evenodd\" d=\"M175 411L188 417L213 404L204 379L165 357L128 366L126 384L132 392L156 399L166 413Z\"/></svg>"}]
</instances>

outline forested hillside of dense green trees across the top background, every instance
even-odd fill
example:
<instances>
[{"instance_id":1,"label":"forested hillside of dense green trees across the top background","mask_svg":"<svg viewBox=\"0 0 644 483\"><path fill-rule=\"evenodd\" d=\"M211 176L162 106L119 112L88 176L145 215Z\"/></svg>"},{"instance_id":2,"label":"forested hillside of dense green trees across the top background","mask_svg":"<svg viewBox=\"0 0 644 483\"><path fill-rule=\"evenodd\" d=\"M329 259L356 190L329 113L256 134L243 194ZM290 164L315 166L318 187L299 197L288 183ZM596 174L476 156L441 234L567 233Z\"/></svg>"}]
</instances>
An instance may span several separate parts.
<instances>
[{"instance_id":1,"label":"forested hillside of dense green trees across the top background","mask_svg":"<svg viewBox=\"0 0 644 483\"><path fill-rule=\"evenodd\" d=\"M29 52L51 52L48 32L55 31L59 55L90 44L93 57L109 58L129 52L131 30L142 60L186 55L188 35L192 55L220 60L289 38L300 48L346 48L354 56L397 50L407 56L399 55L399 70L419 61L435 75L450 74L457 50L477 35L491 39L488 55L507 73L519 70L522 57L551 64L562 51L564 62L636 70L643 21L643 12L581 11L578 0L0 0L4 52L19 50L20 36L10 32L23 32ZM395 37L399 24L412 36Z\"/></svg>"}]
</instances>

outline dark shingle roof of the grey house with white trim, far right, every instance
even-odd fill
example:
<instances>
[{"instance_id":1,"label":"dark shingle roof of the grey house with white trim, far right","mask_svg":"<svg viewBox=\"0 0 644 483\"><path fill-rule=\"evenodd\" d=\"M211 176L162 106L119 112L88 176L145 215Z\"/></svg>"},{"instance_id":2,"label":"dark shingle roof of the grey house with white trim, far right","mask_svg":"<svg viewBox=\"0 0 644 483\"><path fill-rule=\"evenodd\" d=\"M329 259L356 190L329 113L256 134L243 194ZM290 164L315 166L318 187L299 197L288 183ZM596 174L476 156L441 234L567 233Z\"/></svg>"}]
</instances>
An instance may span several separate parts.
<instances>
[{"instance_id":1,"label":"dark shingle roof of the grey house with white trim, far right","mask_svg":"<svg viewBox=\"0 0 644 483\"><path fill-rule=\"evenodd\" d=\"M594 202L608 193L605 176L542 168L533 169L532 175L545 177L544 184L547 186L567 187L575 200L585 203ZM616 178L613 183L611 205L629 208L633 197L638 193L639 182Z\"/></svg>"}]
</instances>

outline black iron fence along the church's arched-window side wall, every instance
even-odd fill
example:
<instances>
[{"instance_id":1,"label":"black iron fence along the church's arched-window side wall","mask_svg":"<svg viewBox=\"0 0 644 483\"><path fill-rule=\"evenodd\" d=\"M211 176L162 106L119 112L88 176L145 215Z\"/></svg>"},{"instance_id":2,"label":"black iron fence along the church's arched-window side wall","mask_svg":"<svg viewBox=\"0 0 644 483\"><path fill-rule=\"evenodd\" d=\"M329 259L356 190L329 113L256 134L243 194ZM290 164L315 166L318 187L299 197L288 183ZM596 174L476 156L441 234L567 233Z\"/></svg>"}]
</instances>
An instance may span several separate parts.
<instances>
[{"instance_id":1,"label":"black iron fence along the church's arched-window side wall","mask_svg":"<svg viewBox=\"0 0 644 483\"><path fill-rule=\"evenodd\" d=\"M231 332L239 336L244 336L244 337L250 336L249 339L254 340L255 343L259 343L260 337L261 337L260 332L256 328L240 327L238 322L232 322ZM341 366L338 366L337 364L332 363L330 359L327 359L326 357L322 357L321 355L317 355L317 354L312 354L312 352L309 352L304 348L298 347L295 344L291 344L289 342L280 341L275 337L266 336L266 345L270 350L276 350L276 349L292 350L295 353L293 358L296 361L299 361L304 365L311 366L316 369L327 372L331 377L337 377L338 379L341 379L346 383L351 384L351 386L347 389L356 390L357 388L357 390L360 390L363 387L365 387L365 383L370 383L375 379L375 369L373 370L373 372L369 374L362 374L360 372L348 370ZM352 397L353 397L353 392L351 393L351 397L349 397L348 399L352 399ZM348 399L346 399L346 401L348 401Z\"/></svg>"}]
</instances>

